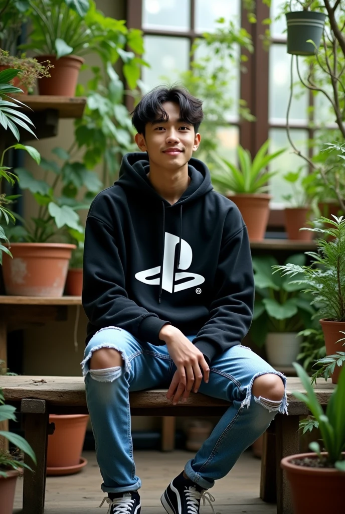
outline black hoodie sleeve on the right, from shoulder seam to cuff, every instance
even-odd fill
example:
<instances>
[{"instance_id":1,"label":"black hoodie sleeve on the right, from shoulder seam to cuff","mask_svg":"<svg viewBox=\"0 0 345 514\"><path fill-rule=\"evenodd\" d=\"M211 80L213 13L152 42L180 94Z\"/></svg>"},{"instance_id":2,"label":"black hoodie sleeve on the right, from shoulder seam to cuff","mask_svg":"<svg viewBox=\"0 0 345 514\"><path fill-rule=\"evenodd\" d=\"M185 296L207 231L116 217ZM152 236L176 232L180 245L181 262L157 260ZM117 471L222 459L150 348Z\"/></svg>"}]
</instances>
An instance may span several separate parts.
<instances>
[{"instance_id":1,"label":"black hoodie sleeve on the right, from shoulder seam to cuff","mask_svg":"<svg viewBox=\"0 0 345 514\"><path fill-rule=\"evenodd\" d=\"M253 317L255 285L247 229L242 222L235 233L226 232L224 226L209 319L193 341L209 362L241 343Z\"/></svg>"}]
</instances>

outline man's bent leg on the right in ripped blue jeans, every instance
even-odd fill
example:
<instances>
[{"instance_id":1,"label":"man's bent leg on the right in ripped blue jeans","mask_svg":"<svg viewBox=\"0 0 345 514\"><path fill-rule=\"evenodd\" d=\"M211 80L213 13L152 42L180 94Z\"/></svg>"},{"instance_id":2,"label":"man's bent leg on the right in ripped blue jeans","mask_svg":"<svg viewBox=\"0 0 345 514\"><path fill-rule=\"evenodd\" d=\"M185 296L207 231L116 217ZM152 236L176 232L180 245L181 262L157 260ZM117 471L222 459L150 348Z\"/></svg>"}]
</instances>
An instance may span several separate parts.
<instances>
[{"instance_id":1,"label":"man's bent leg on the right in ripped blue jeans","mask_svg":"<svg viewBox=\"0 0 345 514\"><path fill-rule=\"evenodd\" d=\"M225 476L276 413L286 413L285 385L284 375L245 346L233 346L217 356L208 383L202 381L199 391L232 405L186 464L186 476L205 489Z\"/></svg>"}]
</instances>

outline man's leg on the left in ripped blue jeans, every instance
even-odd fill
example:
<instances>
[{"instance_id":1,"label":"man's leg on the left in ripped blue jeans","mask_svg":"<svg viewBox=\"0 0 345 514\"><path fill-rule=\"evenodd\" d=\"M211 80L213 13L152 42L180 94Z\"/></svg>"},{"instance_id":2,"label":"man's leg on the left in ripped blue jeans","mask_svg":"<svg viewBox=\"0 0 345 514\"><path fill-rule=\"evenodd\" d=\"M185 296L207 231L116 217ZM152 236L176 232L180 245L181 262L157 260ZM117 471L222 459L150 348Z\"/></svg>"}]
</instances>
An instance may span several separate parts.
<instances>
[{"instance_id":1,"label":"man's leg on the left in ripped blue jeans","mask_svg":"<svg viewBox=\"0 0 345 514\"><path fill-rule=\"evenodd\" d=\"M165 345L139 342L117 327L101 329L85 348L81 364L104 492L141 487L133 460L128 393L166 382L170 363Z\"/></svg>"}]
</instances>

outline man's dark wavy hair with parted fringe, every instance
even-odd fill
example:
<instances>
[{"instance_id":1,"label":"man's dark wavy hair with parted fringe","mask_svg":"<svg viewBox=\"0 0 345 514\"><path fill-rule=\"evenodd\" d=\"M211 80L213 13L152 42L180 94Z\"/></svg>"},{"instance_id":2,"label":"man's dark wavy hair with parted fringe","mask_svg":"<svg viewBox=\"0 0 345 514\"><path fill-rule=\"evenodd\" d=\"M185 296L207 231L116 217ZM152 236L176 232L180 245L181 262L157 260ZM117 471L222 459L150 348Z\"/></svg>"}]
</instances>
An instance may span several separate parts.
<instances>
[{"instance_id":1,"label":"man's dark wavy hair with parted fringe","mask_svg":"<svg viewBox=\"0 0 345 514\"><path fill-rule=\"evenodd\" d=\"M195 98L187 89L178 86L157 86L142 97L133 109L132 124L139 134L145 135L146 123L157 120L168 121L169 116L164 111L162 103L174 102L180 106L180 119L194 126L198 132L204 117L202 101Z\"/></svg>"}]
</instances>

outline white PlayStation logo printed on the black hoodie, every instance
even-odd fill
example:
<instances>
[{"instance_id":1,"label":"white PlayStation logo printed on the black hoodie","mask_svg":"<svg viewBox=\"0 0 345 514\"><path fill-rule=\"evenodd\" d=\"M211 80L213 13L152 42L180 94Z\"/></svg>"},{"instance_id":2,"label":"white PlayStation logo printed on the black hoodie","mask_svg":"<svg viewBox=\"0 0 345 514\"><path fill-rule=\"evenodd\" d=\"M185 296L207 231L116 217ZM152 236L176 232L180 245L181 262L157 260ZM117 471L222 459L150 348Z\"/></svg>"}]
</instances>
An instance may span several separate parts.
<instances>
[{"instance_id":1,"label":"white PlayStation logo printed on the black hoodie","mask_svg":"<svg viewBox=\"0 0 345 514\"><path fill-rule=\"evenodd\" d=\"M198 275L197 273L186 273L183 271L180 273L175 273L174 278L175 249L179 244L179 241L180 240L176 235L165 232L162 289L168 292L182 291L183 289L195 287L205 282L205 279L202 275ZM188 269L192 260L193 252L191 251L190 245L188 245L184 239L181 239L181 256L178 269ZM137 280L140 280L140 282L144 282L144 284L159 285L159 278L151 279L150 277L154 277L160 272L161 267L156 266L156 268L139 271L139 273L136 273L135 277ZM181 279L191 280L187 280L182 284L175 284L175 282Z\"/></svg>"}]
</instances>

